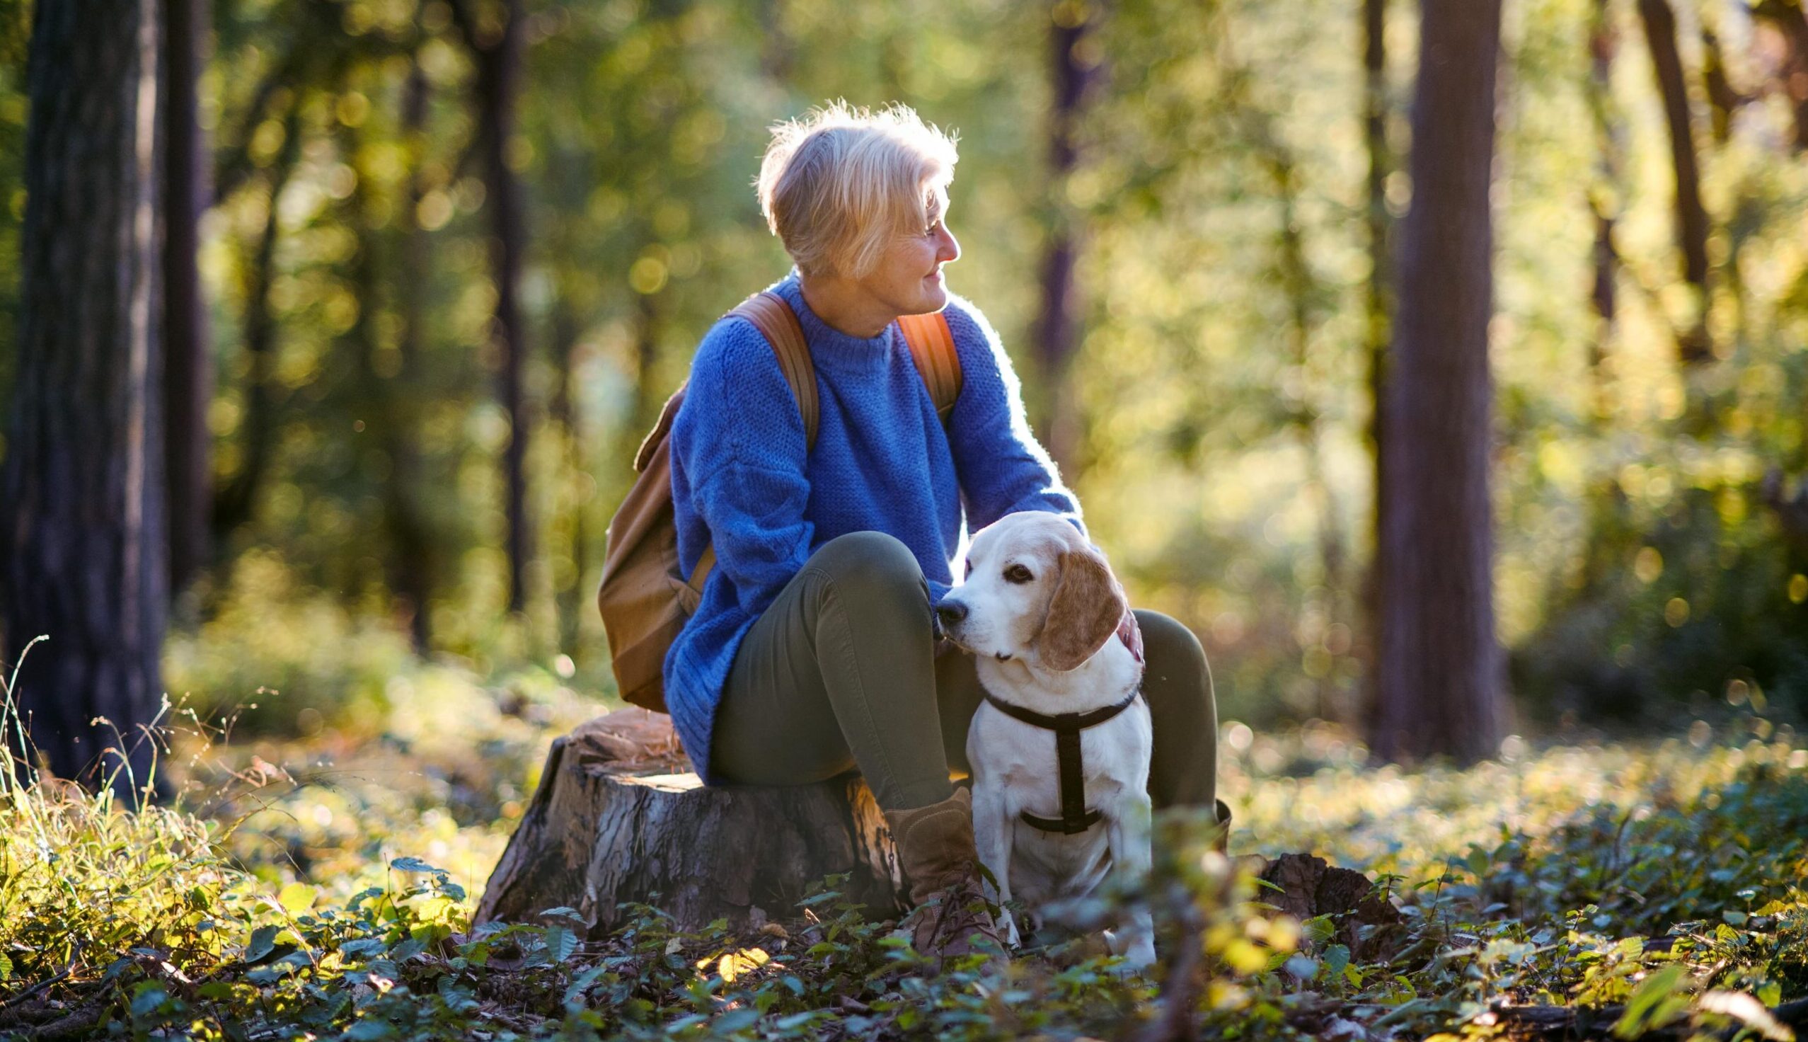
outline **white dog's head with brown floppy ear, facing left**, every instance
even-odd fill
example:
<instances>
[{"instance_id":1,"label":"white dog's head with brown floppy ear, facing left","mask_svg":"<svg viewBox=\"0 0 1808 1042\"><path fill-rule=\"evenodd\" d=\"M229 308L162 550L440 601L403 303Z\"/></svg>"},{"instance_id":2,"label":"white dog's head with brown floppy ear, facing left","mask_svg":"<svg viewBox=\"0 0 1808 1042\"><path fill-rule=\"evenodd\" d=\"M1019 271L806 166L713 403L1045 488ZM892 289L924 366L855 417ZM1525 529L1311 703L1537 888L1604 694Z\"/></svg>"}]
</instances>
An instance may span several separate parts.
<instances>
[{"instance_id":1,"label":"white dog's head with brown floppy ear, facing left","mask_svg":"<svg viewBox=\"0 0 1808 1042\"><path fill-rule=\"evenodd\" d=\"M975 655L1078 669L1112 639L1128 602L1105 555L1056 514L1023 510L982 528L967 579L937 606Z\"/></svg>"}]
</instances>

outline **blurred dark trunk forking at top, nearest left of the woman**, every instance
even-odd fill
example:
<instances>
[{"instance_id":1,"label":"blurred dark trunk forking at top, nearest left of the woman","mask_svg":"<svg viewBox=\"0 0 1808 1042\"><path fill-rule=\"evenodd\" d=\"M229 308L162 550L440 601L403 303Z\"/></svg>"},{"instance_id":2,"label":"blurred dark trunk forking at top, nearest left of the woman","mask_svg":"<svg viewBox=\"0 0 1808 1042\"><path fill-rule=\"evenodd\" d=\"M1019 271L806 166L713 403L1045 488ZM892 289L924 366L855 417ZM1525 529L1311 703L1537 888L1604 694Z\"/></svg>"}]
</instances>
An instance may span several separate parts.
<instances>
[{"instance_id":1,"label":"blurred dark trunk forking at top, nearest left of the woman","mask_svg":"<svg viewBox=\"0 0 1808 1042\"><path fill-rule=\"evenodd\" d=\"M521 185L508 165L508 143L515 136L515 96L521 87L523 11L521 0L492 4L483 14L494 18L479 16L476 7L477 0L456 0L452 13L477 65L477 141L490 206L490 277L495 280L490 336L501 367L503 411L508 412L508 445L503 449L508 610L521 611L526 606L526 568L533 554L528 530L528 412L523 396L528 346L517 300L526 230Z\"/></svg>"}]
</instances>

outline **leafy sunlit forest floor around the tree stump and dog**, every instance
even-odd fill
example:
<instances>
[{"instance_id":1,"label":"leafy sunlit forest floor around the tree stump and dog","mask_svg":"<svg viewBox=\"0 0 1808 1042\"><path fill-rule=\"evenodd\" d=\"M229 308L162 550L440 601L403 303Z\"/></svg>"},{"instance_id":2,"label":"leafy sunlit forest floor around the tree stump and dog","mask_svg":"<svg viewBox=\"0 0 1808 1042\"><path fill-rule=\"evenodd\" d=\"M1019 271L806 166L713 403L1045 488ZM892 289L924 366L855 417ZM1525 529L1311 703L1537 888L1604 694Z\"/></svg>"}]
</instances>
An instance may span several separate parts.
<instances>
[{"instance_id":1,"label":"leafy sunlit forest floor around the tree stump and dog","mask_svg":"<svg viewBox=\"0 0 1808 1042\"><path fill-rule=\"evenodd\" d=\"M468 928L550 738L595 706L416 677L378 727L165 754L128 810L0 776L0 1038L1790 1038L1808 1024L1808 749L1743 715L1687 738L1369 767L1332 727L1224 729L1233 856L1358 868L1396 926L1275 912L1163 821L1161 962L1085 939L931 971L832 886L752 935L645 908L602 943ZM1088 912L1108 915L1119 899Z\"/></svg>"}]
</instances>

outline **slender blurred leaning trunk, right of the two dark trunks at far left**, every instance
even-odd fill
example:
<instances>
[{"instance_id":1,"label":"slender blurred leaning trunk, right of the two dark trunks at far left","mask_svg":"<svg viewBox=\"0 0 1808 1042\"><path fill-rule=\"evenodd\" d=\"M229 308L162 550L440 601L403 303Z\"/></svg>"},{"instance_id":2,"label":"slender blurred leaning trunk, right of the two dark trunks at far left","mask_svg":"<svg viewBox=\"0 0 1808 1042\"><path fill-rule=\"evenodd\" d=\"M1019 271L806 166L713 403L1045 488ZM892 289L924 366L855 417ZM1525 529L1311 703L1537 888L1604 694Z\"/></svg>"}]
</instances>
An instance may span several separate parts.
<instances>
[{"instance_id":1,"label":"slender blurred leaning trunk, right of the two dark trunks at far left","mask_svg":"<svg viewBox=\"0 0 1808 1042\"><path fill-rule=\"evenodd\" d=\"M302 148L302 127L297 110L284 119L282 150L269 168L269 203L264 213L264 232L251 257L250 286L244 293L244 353L250 362L244 382L244 409L240 411L240 461L226 483L213 494L213 541L222 546L235 528L257 512L257 497L264 487L269 452L277 438L277 318L269 311L269 288L277 279L277 201L295 170Z\"/></svg>"}]
</instances>

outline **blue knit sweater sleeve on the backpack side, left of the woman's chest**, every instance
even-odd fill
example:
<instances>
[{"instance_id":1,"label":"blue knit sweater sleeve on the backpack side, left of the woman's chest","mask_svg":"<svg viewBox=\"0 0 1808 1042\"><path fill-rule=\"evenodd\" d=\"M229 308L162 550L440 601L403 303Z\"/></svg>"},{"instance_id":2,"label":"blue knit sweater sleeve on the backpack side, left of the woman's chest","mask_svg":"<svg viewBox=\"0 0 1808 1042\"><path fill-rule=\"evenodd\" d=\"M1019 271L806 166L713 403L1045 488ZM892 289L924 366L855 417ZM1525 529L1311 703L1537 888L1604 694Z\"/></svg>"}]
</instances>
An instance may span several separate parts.
<instances>
[{"instance_id":1,"label":"blue knit sweater sleeve on the backpack side, left of the woman's chest","mask_svg":"<svg viewBox=\"0 0 1808 1042\"><path fill-rule=\"evenodd\" d=\"M797 398L750 322L721 322L703 338L671 438L673 479L689 487L702 521L698 545L680 545L680 557L692 566L703 541L712 545L709 586L729 583L732 601L759 615L808 561L814 526Z\"/></svg>"}]
</instances>

